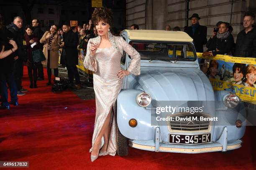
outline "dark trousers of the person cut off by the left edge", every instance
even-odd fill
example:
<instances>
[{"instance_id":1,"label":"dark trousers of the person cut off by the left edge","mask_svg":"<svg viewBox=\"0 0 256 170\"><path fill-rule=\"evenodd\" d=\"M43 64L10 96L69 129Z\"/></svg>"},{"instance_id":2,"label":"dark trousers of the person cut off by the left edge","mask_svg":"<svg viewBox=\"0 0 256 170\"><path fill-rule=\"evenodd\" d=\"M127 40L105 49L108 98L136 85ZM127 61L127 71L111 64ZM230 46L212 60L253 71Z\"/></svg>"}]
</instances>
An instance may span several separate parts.
<instances>
[{"instance_id":1,"label":"dark trousers of the person cut off by the left edge","mask_svg":"<svg viewBox=\"0 0 256 170\"><path fill-rule=\"evenodd\" d=\"M13 73L0 73L0 101L2 102L2 106L9 106L6 83L8 84L8 87L10 89L11 101L18 101L17 87L13 78Z\"/></svg>"}]
</instances>

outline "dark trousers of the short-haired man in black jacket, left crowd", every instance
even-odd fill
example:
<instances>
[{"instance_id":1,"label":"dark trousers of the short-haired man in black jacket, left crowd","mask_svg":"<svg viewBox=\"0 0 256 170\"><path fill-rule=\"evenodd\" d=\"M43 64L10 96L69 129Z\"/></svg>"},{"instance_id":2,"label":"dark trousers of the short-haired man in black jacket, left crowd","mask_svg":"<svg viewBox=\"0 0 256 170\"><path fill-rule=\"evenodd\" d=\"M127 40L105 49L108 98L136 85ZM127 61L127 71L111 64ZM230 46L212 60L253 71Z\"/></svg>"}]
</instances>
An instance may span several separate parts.
<instances>
[{"instance_id":1,"label":"dark trousers of the short-haired man in black jacket, left crowd","mask_svg":"<svg viewBox=\"0 0 256 170\"><path fill-rule=\"evenodd\" d=\"M15 61L14 69L13 69L13 77L14 77L15 84L18 91L22 89L22 86L21 86L22 76L23 76L23 61L18 59Z\"/></svg>"}]
</instances>

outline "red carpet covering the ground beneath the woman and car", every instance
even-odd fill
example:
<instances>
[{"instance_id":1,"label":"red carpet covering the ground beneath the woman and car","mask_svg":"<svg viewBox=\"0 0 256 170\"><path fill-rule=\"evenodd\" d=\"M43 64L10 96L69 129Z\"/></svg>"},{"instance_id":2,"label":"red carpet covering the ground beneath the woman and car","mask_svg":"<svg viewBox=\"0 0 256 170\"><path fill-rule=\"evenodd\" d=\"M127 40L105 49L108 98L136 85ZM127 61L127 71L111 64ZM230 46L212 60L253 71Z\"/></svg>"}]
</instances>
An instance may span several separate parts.
<instances>
[{"instance_id":1,"label":"red carpet covering the ground beneath the woman and car","mask_svg":"<svg viewBox=\"0 0 256 170\"><path fill-rule=\"evenodd\" d=\"M157 153L130 148L126 157L108 155L91 162L95 101L81 100L72 91L54 94L46 81L38 81L37 89L29 89L26 70L24 67L23 87L29 91L19 96L18 107L0 111L0 161L29 161L33 170L256 169L255 127L246 129L243 147L231 154Z\"/></svg>"}]
</instances>

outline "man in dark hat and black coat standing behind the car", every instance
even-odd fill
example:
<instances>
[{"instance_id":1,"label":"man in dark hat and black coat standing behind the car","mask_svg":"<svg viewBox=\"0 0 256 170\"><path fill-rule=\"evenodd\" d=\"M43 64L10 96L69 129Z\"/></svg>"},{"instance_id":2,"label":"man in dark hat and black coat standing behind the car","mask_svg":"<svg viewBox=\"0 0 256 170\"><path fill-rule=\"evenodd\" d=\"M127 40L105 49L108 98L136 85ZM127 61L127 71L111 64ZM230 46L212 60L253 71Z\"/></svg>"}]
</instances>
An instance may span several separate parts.
<instances>
[{"instance_id":1,"label":"man in dark hat and black coat standing behind the car","mask_svg":"<svg viewBox=\"0 0 256 170\"><path fill-rule=\"evenodd\" d=\"M191 20L192 25L184 31L193 38L196 51L202 53L203 45L207 43L207 27L199 25L200 17L197 13L193 13L189 20Z\"/></svg>"}]
</instances>

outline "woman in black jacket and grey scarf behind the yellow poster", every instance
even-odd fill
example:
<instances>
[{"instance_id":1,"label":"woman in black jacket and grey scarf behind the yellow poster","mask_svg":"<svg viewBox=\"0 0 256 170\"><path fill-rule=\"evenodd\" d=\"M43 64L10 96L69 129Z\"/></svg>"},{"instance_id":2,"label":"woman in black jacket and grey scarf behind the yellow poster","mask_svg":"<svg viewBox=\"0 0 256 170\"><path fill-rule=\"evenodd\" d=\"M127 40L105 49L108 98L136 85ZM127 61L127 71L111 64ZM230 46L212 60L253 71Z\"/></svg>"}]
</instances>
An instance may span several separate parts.
<instances>
[{"instance_id":1,"label":"woman in black jacket and grey scarf behind the yellow poster","mask_svg":"<svg viewBox=\"0 0 256 170\"><path fill-rule=\"evenodd\" d=\"M216 36L212 36L208 42L209 56L215 56L217 54L230 55L234 46L234 38L231 34L232 27L229 23L222 22L219 27L219 31Z\"/></svg>"}]
</instances>

